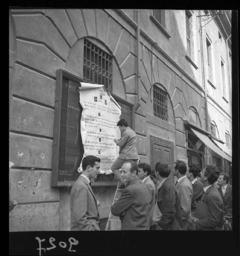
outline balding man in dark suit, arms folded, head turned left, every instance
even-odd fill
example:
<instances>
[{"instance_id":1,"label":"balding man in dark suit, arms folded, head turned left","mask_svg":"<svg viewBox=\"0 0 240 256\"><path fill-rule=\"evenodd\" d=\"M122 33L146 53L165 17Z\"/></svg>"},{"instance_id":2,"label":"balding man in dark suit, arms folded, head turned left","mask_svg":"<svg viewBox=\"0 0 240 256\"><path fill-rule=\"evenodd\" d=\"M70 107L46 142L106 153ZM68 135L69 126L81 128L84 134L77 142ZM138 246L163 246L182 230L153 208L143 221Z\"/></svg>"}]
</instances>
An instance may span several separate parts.
<instances>
[{"instance_id":1,"label":"balding man in dark suit, arms folded, head turned left","mask_svg":"<svg viewBox=\"0 0 240 256\"><path fill-rule=\"evenodd\" d=\"M121 167L121 177L127 187L112 205L112 214L121 219L121 230L149 230L150 194L138 178L137 163L127 160Z\"/></svg>"}]
</instances>

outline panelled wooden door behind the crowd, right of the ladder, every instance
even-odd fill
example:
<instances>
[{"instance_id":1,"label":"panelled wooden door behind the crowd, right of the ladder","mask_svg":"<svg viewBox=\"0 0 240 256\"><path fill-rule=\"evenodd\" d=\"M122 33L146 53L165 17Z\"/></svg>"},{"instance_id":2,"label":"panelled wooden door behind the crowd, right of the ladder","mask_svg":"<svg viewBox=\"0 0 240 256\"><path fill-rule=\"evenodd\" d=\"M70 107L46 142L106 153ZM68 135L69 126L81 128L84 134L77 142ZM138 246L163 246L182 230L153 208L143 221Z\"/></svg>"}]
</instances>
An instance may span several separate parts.
<instances>
[{"instance_id":1,"label":"panelled wooden door behind the crowd, right of the ladder","mask_svg":"<svg viewBox=\"0 0 240 256\"><path fill-rule=\"evenodd\" d=\"M168 163L173 167L173 143L167 140L162 140L157 137L150 136L150 165L152 169L155 169L155 164ZM173 173L171 171L169 175L173 181Z\"/></svg>"}]
</instances>

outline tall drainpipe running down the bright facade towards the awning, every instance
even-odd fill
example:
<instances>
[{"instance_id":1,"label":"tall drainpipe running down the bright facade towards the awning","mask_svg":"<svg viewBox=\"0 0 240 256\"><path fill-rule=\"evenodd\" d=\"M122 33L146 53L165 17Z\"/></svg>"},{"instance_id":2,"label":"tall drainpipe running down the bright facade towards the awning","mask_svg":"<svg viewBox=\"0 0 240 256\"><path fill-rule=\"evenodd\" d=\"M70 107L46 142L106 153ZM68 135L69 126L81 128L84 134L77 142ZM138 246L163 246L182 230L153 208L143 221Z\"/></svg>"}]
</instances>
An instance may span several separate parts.
<instances>
[{"instance_id":1,"label":"tall drainpipe running down the bright facade towards the awning","mask_svg":"<svg viewBox=\"0 0 240 256\"><path fill-rule=\"evenodd\" d=\"M198 15L200 16L200 10L198 11ZM207 99L207 88L206 88L206 84L207 84L207 78L206 78L206 54L205 54L205 37L204 37L204 32L203 32L203 28L202 28L202 19L201 17L199 17L199 23L200 23L200 49L201 49L201 57L202 57L202 84L204 87L204 101L205 101L205 120L206 120L206 131L208 132L208 99ZM210 153L210 151L209 151ZM210 159L209 159L210 160ZM211 163L211 160L210 160ZM206 164L208 165L208 158L206 157Z\"/></svg>"}]
</instances>

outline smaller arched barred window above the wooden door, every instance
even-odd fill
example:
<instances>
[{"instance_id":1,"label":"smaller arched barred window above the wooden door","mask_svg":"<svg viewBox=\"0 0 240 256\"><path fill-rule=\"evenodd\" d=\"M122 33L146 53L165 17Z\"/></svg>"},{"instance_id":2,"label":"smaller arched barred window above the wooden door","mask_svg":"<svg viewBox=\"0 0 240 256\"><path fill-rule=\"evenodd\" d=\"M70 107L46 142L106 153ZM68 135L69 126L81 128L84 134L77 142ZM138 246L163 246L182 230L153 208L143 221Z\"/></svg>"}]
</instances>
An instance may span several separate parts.
<instances>
[{"instance_id":1,"label":"smaller arched barred window above the wooden door","mask_svg":"<svg viewBox=\"0 0 240 256\"><path fill-rule=\"evenodd\" d=\"M155 84L153 85L153 114L168 121L168 95Z\"/></svg>"}]
</instances>

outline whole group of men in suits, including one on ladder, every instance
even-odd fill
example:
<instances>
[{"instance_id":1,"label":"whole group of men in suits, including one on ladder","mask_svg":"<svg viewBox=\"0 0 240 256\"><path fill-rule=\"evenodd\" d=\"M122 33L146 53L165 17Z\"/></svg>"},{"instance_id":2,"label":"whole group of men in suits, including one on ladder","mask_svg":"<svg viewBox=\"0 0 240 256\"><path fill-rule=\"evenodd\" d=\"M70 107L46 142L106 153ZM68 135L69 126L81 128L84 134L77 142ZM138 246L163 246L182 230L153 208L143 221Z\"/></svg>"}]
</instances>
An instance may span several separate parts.
<instances>
[{"instance_id":1,"label":"whole group of men in suits, including one on ladder","mask_svg":"<svg viewBox=\"0 0 240 256\"><path fill-rule=\"evenodd\" d=\"M215 166L206 166L202 171L196 166L187 168L180 160L173 168L159 162L151 170L147 163L138 164L136 134L127 121L120 119L117 125L121 139L114 141L119 145L119 157L111 169L123 190L111 212L119 216L121 230L223 230L224 215L232 216L228 175L220 174ZM72 186L73 231L100 230L98 201L90 186L98 175L100 162L95 156L84 157L83 172ZM177 178L175 184L169 177L171 171ZM207 207L205 217L200 219L194 217L198 202Z\"/></svg>"}]
</instances>

